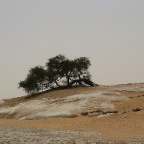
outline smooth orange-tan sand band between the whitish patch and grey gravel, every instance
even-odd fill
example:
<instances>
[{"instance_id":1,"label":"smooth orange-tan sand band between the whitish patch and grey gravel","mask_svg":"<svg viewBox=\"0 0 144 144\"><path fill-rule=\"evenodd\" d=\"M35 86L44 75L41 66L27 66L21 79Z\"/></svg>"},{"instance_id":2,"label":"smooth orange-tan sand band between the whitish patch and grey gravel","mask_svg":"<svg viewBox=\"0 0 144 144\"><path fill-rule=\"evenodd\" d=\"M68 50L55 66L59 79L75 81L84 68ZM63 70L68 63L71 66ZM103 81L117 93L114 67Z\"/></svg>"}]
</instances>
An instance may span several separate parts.
<instances>
[{"instance_id":1,"label":"smooth orange-tan sand band between the whitish patch and grey gravel","mask_svg":"<svg viewBox=\"0 0 144 144\"><path fill-rule=\"evenodd\" d=\"M46 120L1 119L0 128L1 126L95 132L96 137L91 139L96 141L144 142L144 112L142 111L100 119L95 117L49 118Z\"/></svg>"}]
</instances>

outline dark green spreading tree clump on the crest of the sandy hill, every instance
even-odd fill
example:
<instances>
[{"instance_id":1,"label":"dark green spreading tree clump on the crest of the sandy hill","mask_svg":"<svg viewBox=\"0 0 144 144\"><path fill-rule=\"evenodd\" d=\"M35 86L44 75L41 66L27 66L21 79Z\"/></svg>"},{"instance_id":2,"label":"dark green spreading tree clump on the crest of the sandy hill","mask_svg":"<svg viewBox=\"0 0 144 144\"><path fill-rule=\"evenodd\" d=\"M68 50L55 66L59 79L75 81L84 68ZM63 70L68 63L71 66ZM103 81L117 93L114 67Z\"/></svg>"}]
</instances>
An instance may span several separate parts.
<instances>
[{"instance_id":1,"label":"dark green spreading tree clump on the crest of the sandy hill","mask_svg":"<svg viewBox=\"0 0 144 144\"><path fill-rule=\"evenodd\" d=\"M88 71L90 66L91 62L87 57L69 60L60 54L48 59L45 67L30 68L25 80L19 82L19 88L23 88L28 94L33 94L73 85L95 86Z\"/></svg>"}]
</instances>

